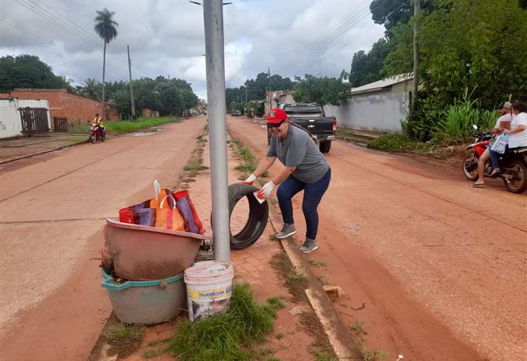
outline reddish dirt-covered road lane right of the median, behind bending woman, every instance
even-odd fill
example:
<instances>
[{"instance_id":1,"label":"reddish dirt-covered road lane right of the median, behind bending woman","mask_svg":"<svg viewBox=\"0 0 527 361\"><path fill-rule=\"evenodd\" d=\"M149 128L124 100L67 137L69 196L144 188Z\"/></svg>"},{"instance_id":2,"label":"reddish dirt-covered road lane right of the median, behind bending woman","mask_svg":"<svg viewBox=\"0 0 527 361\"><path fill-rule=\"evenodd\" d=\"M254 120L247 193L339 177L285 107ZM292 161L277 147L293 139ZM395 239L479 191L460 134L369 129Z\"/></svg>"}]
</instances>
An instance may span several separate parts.
<instances>
[{"instance_id":1,"label":"reddish dirt-covered road lane right of the median, behind bending woman","mask_svg":"<svg viewBox=\"0 0 527 361\"><path fill-rule=\"evenodd\" d=\"M228 124L265 156L263 124ZM327 160L320 248L308 257L327 265L314 267L323 282L343 287L336 309L368 346L387 360L527 360L526 194L499 181L472 189L457 169L344 142Z\"/></svg>"}]
</instances>

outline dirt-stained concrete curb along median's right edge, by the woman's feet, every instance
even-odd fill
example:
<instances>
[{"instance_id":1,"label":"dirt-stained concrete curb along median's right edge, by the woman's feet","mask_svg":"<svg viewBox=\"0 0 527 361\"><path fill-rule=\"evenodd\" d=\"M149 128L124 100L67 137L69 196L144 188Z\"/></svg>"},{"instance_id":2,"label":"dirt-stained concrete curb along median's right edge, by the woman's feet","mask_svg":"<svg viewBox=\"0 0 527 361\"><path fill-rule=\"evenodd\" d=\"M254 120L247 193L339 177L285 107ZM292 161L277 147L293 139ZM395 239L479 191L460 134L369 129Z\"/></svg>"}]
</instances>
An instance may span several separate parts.
<instances>
[{"instance_id":1,"label":"dirt-stained concrete curb along median's right edge, by the woman's feet","mask_svg":"<svg viewBox=\"0 0 527 361\"><path fill-rule=\"evenodd\" d=\"M260 185L261 188L261 183L258 179L254 183ZM279 216L277 206L270 201L268 203L270 205L270 224L275 232L278 232L277 224L281 224L282 219ZM311 308L315 311L318 321L322 324L322 328L324 328L338 360L363 360L363 355L358 346L360 344L359 340L349 332L347 326L338 317L333 303L322 288L322 283L311 271L311 266L300 253L293 237L287 237L284 240L279 240L279 242L296 271L306 277L310 287L306 289L307 299L311 304Z\"/></svg>"}]
</instances>

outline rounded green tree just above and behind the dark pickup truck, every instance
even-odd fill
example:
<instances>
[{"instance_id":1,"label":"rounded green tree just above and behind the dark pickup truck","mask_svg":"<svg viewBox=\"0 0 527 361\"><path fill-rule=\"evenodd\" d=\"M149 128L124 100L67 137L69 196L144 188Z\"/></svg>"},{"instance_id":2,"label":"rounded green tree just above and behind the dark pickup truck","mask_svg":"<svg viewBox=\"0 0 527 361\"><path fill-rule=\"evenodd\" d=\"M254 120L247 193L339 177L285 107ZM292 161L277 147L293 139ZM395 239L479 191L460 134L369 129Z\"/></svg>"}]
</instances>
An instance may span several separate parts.
<instances>
[{"instance_id":1,"label":"rounded green tree just above and behind the dark pickup truck","mask_svg":"<svg viewBox=\"0 0 527 361\"><path fill-rule=\"evenodd\" d=\"M303 79L296 77L293 98L299 103L317 103L322 107L326 104L339 106L349 90L349 84L343 82L345 76L343 72L338 78L318 78L311 74L306 74Z\"/></svg>"}]
</instances>

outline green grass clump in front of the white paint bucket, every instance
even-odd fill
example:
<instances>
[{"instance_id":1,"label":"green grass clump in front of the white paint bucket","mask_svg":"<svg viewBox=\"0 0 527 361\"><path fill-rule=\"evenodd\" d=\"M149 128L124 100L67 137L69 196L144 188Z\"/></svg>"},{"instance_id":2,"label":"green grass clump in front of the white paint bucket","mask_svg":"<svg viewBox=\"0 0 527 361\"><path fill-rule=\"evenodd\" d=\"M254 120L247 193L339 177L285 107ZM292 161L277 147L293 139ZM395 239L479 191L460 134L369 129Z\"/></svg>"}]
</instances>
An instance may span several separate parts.
<instances>
[{"instance_id":1,"label":"green grass clump in front of the white paint bucket","mask_svg":"<svg viewBox=\"0 0 527 361\"><path fill-rule=\"evenodd\" d=\"M251 346L265 341L276 313L276 303L255 301L247 283L234 285L225 312L178 324L166 351L181 361L252 360Z\"/></svg>"}]
</instances>

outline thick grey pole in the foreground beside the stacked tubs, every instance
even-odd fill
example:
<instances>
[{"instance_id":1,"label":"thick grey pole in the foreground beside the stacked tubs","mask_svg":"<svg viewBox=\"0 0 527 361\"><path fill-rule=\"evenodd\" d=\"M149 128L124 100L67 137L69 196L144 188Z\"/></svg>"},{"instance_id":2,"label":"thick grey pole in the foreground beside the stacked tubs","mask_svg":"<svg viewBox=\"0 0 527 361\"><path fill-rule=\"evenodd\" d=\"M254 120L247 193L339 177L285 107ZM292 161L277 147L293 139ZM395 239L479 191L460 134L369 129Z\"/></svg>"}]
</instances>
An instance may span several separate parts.
<instances>
[{"instance_id":1,"label":"thick grey pole in the foreground beside the stacked tubs","mask_svg":"<svg viewBox=\"0 0 527 361\"><path fill-rule=\"evenodd\" d=\"M214 260L230 262L230 223L225 125L223 0L203 1L212 194Z\"/></svg>"}]
</instances>

